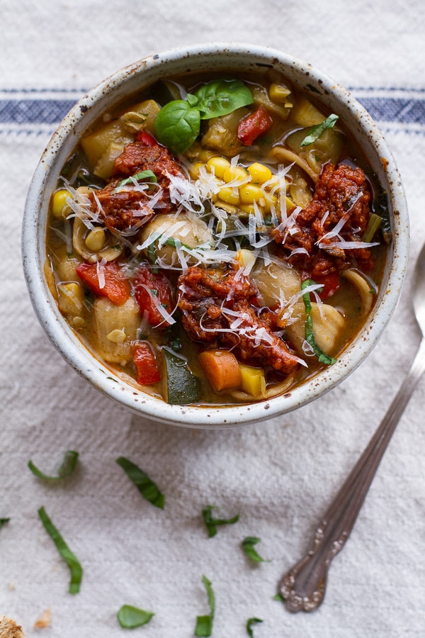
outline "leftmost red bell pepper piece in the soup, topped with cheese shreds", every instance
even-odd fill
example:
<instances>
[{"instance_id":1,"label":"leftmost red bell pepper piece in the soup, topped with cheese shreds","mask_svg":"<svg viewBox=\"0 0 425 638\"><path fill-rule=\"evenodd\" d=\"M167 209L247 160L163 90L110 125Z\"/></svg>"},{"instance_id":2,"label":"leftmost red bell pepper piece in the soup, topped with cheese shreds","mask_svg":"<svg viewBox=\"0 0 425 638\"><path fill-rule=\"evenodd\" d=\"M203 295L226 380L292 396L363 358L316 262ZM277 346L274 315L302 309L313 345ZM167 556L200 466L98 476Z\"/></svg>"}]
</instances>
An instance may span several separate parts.
<instances>
[{"instance_id":1,"label":"leftmost red bell pepper piece in the soup, topped with cheese shreds","mask_svg":"<svg viewBox=\"0 0 425 638\"><path fill-rule=\"evenodd\" d=\"M107 262L104 265L83 262L77 266L76 271L92 293L108 297L116 306L123 306L130 297L130 281L125 279L117 262ZM99 281L99 274L105 279L103 286Z\"/></svg>"}]
</instances>

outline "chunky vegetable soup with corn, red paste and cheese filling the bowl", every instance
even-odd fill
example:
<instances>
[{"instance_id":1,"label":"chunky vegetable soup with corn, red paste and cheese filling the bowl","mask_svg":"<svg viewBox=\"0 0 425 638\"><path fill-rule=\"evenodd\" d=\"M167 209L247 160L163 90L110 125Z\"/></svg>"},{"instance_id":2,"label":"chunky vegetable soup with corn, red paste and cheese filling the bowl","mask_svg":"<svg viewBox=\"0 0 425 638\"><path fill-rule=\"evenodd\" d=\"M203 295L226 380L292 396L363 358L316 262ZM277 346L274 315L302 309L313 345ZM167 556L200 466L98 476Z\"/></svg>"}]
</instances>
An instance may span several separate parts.
<instances>
[{"instance_id":1,"label":"chunky vegetable soup with corn, red paste and cheese filling the bowl","mask_svg":"<svg viewBox=\"0 0 425 638\"><path fill-rule=\"evenodd\" d=\"M81 140L52 194L46 272L69 325L135 388L250 403L334 363L390 238L337 113L278 74L187 75Z\"/></svg>"}]
</instances>

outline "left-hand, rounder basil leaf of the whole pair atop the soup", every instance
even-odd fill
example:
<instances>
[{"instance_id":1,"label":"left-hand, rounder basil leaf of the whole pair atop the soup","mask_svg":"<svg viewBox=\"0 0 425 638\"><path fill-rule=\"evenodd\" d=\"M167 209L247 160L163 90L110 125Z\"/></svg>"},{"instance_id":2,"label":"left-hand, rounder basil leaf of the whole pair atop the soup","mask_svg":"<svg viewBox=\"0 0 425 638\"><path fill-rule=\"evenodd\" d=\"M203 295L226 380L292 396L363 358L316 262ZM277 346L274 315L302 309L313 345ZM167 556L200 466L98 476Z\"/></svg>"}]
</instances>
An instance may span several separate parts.
<instances>
[{"instance_id":1,"label":"left-hand, rounder basil leaf of the whole pair atop the soup","mask_svg":"<svg viewBox=\"0 0 425 638\"><path fill-rule=\"evenodd\" d=\"M155 120L157 140L172 152L184 153L199 135L200 113L185 100L173 100Z\"/></svg>"}]
</instances>

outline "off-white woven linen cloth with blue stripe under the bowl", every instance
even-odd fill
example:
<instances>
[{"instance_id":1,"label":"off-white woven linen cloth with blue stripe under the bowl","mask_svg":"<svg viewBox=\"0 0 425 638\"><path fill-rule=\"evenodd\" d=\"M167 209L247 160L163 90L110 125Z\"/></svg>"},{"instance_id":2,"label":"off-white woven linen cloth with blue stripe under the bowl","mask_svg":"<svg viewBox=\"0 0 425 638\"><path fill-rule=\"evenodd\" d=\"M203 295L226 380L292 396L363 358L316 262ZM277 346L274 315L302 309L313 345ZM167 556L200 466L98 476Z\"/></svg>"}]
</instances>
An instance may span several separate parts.
<instances>
[{"instance_id":1,"label":"off-white woven linen cloth with blue stripe under the bowl","mask_svg":"<svg viewBox=\"0 0 425 638\"><path fill-rule=\"evenodd\" d=\"M419 345L412 270L425 240L425 5L413 0L0 0L0 616L26 636L118 638L121 605L154 612L134 635L419 637L425 634L425 380L400 420L319 610L291 615L273 600L305 554L321 515L358 459ZM312 63L351 89L380 125L409 203L411 249L402 298L368 359L331 393L288 415L231 431L185 430L132 415L64 362L30 305L21 222L38 159L69 108L145 55L178 45L249 42ZM67 449L75 473L55 471ZM141 498L115 459L144 469L166 496ZM208 538L205 505L232 517ZM44 506L84 569L69 570L42 527ZM242 539L271 559L251 564ZM50 610L44 629L35 622ZM132 634L133 635L133 634Z\"/></svg>"}]
</instances>

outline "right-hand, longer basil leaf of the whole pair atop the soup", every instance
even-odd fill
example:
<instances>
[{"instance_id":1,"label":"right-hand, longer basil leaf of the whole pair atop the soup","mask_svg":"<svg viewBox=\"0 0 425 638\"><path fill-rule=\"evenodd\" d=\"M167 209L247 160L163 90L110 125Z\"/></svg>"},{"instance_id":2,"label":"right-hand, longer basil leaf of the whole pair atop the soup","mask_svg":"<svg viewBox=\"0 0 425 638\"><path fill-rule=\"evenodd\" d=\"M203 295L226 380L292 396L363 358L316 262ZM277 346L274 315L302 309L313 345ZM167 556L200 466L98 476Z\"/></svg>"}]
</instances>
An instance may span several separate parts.
<instances>
[{"instance_id":1,"label":"right-hand, longer basil leaf of the whole pair atop the soup","mask_svg":"<svg viewBox=\"0 0 425 638\"><path fill-rule=\"evenodd\" d=\"M195 95L199 100L196 108L202 111L200 115L202 120L227 115L241 106L254 102L246 84L234 79L218 79L203 84Z\"/></svg>"}]
</instances>

